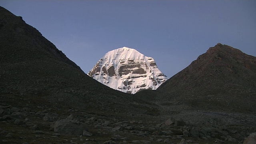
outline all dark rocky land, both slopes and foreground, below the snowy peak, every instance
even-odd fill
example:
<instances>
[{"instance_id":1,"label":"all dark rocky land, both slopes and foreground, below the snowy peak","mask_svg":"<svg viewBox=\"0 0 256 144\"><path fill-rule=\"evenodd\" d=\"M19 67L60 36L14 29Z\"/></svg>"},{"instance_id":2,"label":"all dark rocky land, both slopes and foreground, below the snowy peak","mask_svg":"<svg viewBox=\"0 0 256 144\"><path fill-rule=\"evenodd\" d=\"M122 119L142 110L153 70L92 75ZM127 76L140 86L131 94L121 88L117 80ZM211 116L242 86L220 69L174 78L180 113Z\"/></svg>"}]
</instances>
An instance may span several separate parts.
<instances>
[{"instance_id":1,"label":"all dark rocky land, both slopes and foreground, below the snowy peak","mask_svg":"<svg viewBox=\"0 0 256 144\"><path fill-rule=\"evenodd\" d=\"M256 61L236 51L217 44L157 90L126 94L0 7L0 143L255 144Z\"/></svg>"}]
</instances>

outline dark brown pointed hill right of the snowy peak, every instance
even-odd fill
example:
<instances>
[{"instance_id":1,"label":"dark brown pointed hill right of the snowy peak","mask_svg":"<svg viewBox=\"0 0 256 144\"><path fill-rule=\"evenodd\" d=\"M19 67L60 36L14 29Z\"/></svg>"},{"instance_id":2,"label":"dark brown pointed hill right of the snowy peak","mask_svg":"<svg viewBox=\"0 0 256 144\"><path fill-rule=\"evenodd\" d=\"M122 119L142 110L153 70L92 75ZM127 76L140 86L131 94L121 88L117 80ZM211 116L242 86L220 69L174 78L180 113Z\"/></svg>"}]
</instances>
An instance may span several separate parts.
<instances>
[{"instance_id":1,"label":"dark brown pointed hill right of the snowy peak","mask_svg":"<svg viewBox=\"0 0 256 144\"><path fill-rule=\"evenodd\" d=\"M217 44L158 88L163 102L202 110L256 112L256 57Z\"/></svg>"}]
</instances>

